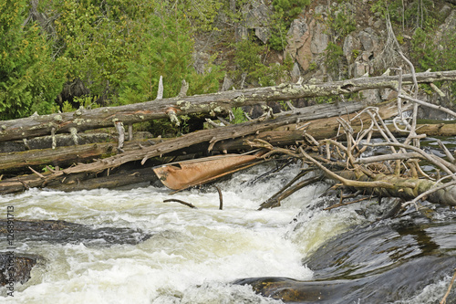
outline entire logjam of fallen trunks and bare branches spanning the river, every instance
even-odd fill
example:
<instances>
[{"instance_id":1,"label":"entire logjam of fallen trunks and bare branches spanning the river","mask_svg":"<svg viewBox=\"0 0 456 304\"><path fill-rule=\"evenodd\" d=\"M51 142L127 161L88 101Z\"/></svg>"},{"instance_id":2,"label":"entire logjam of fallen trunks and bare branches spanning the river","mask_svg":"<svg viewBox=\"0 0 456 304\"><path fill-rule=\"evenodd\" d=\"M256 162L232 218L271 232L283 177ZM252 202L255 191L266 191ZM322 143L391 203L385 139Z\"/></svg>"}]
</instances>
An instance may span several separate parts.
<instances>
[{"instance_id":1,"label":"entire logjam of fallen trunks and bare branches spanning the river","mask_svg":"<svg viewBox=\"0 0 456 304\"><path fill-rule=\"evenodd\" d=\"M401 197L412 204L427 198L438 204L456 205L456 190L452 187L456 183L454 157L444 147L446 159L430 155L420 150L419 142L426 135L454 135L455 125L417 125L418 105L436 106L418 100L416 94L409 95L403 89L413 88L416 93L419 83L454 81L456 71L401 75L399 70L398 74L320 84L281 84L191 97L183 91L171 99L0 121L0 149L4 151L0 153L0 194L31 187L74 191L150 183L157 181L152 170L157 165L261 148L267 151L263 159L285 154L319 172L305 182L287 185L285 194L275 195L262 208L278 204L296 187L315 183L320 174L365 194ZM397 98L382 104L350 101L306 108L295 108L289 102L364 89L392 89L397 92ZM289 110L272 113L267 106L271 101L284 101ZM254 105L264 109L264 116L240 124L225 121L234 107ZM404 115L407 110L413 111L410 120ZM179 124L179 116L196 113L219 118L225 126L172 139L138 139L133 133L132 126L137 122L169 118ZM394 123L387 126L384 121L393 117L396 117ZM116 133L93 133L102 128ZM384 142L373 144L370 142L373 137L381 137ZM405 142L399 142L399 137L405 137ZM362 152L376 145L389 146L391 153L383 158L363 158ZM438 167L442 176L423 173L420 160Z\"/></svg>"}]
</instances>

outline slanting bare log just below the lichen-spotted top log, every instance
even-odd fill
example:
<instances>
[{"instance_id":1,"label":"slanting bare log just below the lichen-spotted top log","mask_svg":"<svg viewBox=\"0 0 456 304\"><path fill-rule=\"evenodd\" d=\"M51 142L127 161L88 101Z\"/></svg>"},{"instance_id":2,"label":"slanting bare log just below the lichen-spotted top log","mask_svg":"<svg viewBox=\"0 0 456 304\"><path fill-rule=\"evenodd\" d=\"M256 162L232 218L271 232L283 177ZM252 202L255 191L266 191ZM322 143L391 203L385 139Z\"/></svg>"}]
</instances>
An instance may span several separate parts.
<instances>
[{"instance_id":1,"label":"slanting bare log just below the lichen-spotted top log","mask_svg":"<svg viewBox=\"0 0 456 304\"><path fill-rule=\"evenodd\" d=\"M386 106L389 108L388 103ZM242 138L250 134L274 130L280 126L297 122L338 116L341 112L350 113L363 108L364 106L360 102L323 104L295 110L294 114L282 115L273 120L248 121L224 128L195 131L180 138L160 142L150 147L142 147L141 149L136 149L134 151L123 152L95 162L78 164L74 167L60 170L55 173L21 176L1 181L0 193L20 192L30 187L56 186L57 181L60 181L58 183L69 183L68 181L74 183L74 179L76 179L79 181L78 183L80 183L89 177L96 176L105 170L119 167L126 162L141 161L141 164L144 164L150 158L162 156L170 152L177 152L184 148L191 147L192 145L202 143L208 143L207 151L211 152L217 142ZM389 112L392 113L391 111ZM226 145L226 142L223 144ZM224 148L225 147L223 146L221 147L221 149ZM70 175L72 175L74 179L68 178Z\"/></svg>"}]
</instances>

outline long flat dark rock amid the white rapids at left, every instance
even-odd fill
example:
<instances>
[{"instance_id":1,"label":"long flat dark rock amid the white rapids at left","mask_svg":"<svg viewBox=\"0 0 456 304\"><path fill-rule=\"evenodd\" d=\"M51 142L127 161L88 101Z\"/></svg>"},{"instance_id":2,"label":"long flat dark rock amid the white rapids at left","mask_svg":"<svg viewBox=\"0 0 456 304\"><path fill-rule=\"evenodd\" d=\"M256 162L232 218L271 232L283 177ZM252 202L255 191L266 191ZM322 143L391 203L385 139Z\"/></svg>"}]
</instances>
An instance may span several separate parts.
<instances>
[{"instance_id":1,"label":"long flat dark rock amid the white rapids at left","mask_svg":"<svg viewBox=\"0 0 456 304\"><path fill-rule=\"evenodd\" d=\"M0 236L6 234L6 220L0 220ZM100 227L55 220L15 220L15 243L49 242L84 245L135 245L150 234L126 227Z\"/></svg>"}]
</instances>

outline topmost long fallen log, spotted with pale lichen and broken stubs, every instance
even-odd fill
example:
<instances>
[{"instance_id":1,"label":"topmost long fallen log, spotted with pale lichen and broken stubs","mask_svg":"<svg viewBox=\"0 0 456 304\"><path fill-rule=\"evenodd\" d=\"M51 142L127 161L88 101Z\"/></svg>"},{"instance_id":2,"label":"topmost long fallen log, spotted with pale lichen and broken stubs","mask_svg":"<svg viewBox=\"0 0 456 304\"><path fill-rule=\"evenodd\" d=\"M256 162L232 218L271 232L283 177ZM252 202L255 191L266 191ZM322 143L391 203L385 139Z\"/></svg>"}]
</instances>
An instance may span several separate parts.
<instances>
[{"instance_id":1,"label":"topmost long fallen log, spotted with pale lichen and broken stubs","mask_svg":"<svg viewBox=\"0 0 456 304\"><path fill-rule=\"evenodd\" d=\"M420 83L456 80L456 71L416 74ZM412 83L411 75L404 75L402 85ZM30 139L51 133L75 133L105 127L113 127L117 121L130 125L176 115L208 114L222 115L233 107L264 104L268 100L294 100L305 97L330 96L358 92L363 89L398 89L399 76L348 79L316 84L280 84L243 90L223 91L206 95L153 100L131 105L79 109L73 112L0 121L0 142Z\"/></svg>"}]
</instances>

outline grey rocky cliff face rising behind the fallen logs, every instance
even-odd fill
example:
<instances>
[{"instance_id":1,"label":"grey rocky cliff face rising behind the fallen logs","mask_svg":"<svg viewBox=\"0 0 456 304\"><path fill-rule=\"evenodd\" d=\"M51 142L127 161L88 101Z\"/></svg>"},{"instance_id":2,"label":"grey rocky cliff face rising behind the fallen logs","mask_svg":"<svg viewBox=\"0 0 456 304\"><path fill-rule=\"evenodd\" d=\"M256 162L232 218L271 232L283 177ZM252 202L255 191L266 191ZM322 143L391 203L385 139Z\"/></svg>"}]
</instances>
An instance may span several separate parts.
<instances>
[{"instance_id":1,"label":"grey rocky cliff face rising behind the fallen logs","mask_svg":"<svg viewBox=\"0 0 456 304\"><path fill-rule=\"evenodd\" d=\"M292 81L301 78L320 82L378 76L388 68L398 67L409 72L407 64L392 50L392 39L398 38L402 51L409 56L415 28L413 25L393 26L395 33L389 32L384 14L372 9L372 5L377 3L372 0L313 1L293 20L285 36L285 50L277 52L273 60L281 64L286 56L293 58ZM444 20L435 26L432 43L440 49L451 47L445 45L444 38L455 32L456 7L445 1L434 1L431 8L440 20ZM254 0L244 5L242 12L244 21L237 26L236 37L242 39L247 33L254 33L258 43L267 43L273 12L269 1ZM420 98L451 106L450 93L443 91L444 95L423 92ZM380 101L393 98L395 92L375 90L363 95ZM426 110L423 115L434 114ZM436 118L445 118L445 115Z\"/></svg>"}]
</instances>

